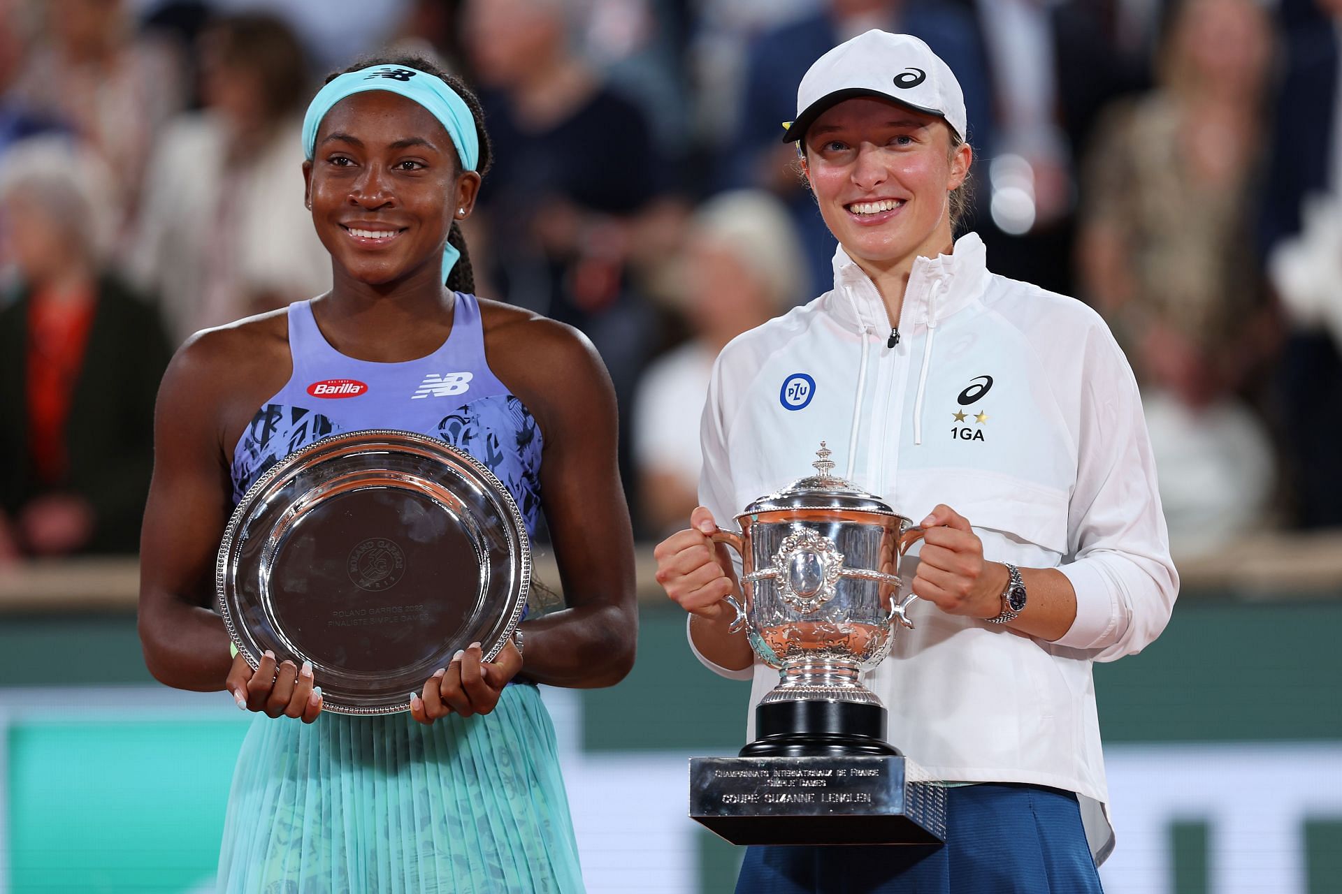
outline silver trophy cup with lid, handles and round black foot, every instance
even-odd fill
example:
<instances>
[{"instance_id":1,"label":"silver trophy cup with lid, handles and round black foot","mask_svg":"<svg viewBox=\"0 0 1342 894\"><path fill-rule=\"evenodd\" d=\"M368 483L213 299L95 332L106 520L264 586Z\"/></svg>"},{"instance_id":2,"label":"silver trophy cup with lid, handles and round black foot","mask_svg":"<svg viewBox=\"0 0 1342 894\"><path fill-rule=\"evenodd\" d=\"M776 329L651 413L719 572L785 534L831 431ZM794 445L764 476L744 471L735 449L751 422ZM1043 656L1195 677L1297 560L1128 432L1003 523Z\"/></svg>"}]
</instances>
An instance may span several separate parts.
<instances>
[{"instance_id":1,"label":"silver trophy cup with lid, handles and round black foot","mask_svg":"<svg viewBox=\"0 0 1342 894\"><path fill-rule=\"evenodd\" d=\"M862 673L890 653L896 623L913 627L906 610L917 596L900 599L899 560L923 531L831 474L829 454L821 442L816 474L746 507L739 532L713 535L742 560L745 606L727 598L733 630L745 629L780 673L757 709L762 739L742 755L766 753L770 736L790 736L788 753L805 753L815 736L823 753L898 753L883 741L886 712Z\"/></svg>"}]
</instances>

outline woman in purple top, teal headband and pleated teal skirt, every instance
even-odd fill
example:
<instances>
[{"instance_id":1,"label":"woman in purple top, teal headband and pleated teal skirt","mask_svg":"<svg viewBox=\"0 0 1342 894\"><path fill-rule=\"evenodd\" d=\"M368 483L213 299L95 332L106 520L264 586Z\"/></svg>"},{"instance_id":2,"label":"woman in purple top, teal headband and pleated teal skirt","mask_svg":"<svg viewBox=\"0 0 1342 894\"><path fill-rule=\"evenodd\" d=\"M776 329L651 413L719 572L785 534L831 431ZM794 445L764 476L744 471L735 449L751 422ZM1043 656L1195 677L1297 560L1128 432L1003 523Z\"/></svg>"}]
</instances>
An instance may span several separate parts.
<instances>
[{"instance_id":1,"label":"woman in purple top, teal headband and pleated teal skirt","mask_svg":"<svg viewBox=\"0 0 1342 894\"><path fill-rule=\"evenodd\" d=\"M160 391L142 536L149 669L256 712L220 890L581 891L535 684L608 686L633 661L609 378L576 331L471 295L458 221L490 153L459 79L417 58L360 64L313 99L303 138L334 285L181 347ZM267 651L252 670L211 610L216 551L248 488L286 454L365 429L475 457L527 532L544 511L568 584L565 610L525 622L493 661L480 643L456 651L404 697L409 712L381 716L323 713L310 662Z\"/></svg>"}]
</instances>

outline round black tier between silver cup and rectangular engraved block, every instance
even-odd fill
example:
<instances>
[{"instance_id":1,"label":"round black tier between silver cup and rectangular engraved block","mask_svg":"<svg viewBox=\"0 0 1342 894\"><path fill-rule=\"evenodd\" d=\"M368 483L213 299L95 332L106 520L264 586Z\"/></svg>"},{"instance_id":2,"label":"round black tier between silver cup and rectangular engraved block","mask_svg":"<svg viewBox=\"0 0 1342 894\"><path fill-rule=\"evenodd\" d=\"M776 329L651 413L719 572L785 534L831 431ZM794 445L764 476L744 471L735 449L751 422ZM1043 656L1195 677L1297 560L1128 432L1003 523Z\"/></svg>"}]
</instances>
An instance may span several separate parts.
<instances>
[{"instance_id":1,"label":"round black tier between silver cup and rectangular engraved block","mask_svg":"<svg viewBox=\"0 0 1342 894\"><path fill-rule=\"evenodd\" d=\"M852 701L774 701L756 708L758 739L741 757L899 756L886 741L886 709Z\"/></svg>"}]
</instances>

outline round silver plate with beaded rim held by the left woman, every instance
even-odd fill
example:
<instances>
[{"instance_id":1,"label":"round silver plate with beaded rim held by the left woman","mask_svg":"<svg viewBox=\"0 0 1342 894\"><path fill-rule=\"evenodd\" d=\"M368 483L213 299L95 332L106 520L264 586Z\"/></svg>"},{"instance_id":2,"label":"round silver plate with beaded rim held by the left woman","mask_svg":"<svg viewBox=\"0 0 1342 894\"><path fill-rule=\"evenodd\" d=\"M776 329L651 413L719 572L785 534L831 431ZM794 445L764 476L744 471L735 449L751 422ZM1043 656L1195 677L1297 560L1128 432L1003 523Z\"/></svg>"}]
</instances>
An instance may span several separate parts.
<instances>
[{"instance_id":1,"label":"round silver plate with beaded rim held by the left woman","mask_svg":"<svg viewBox=\"0 0 1342 894\"><path fill-rule=\"evenodd\" d=\"M325 710L389 714L479 642L513 635L531 550L507 488L479 460L412 432L336 434L247 491L215 572L247 663L313 662Z\"/></svg>"}]
</instances>

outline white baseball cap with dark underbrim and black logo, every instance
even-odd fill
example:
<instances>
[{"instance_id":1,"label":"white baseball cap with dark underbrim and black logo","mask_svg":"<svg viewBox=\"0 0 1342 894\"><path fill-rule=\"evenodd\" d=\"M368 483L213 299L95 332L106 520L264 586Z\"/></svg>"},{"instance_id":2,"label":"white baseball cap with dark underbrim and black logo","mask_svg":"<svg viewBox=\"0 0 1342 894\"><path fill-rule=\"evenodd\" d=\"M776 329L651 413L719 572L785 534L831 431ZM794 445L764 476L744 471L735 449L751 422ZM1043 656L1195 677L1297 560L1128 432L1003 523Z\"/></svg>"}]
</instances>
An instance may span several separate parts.
<instances>
[{"instance_id":1,"label":"white baseball cap with dark underbrim and black logo","mask_svg":"<svg viewBox=\"0 0 1342 894\"><path fill-rule=\"evenodd\" d=\"M872 28L845 40L807 70L797 87L797 119L785 122L784 142L805 135L829 106L855 97L878 97L943 118L965 138L965 94L950 66L907 34Z\"/></svg>"}]
</instances>

